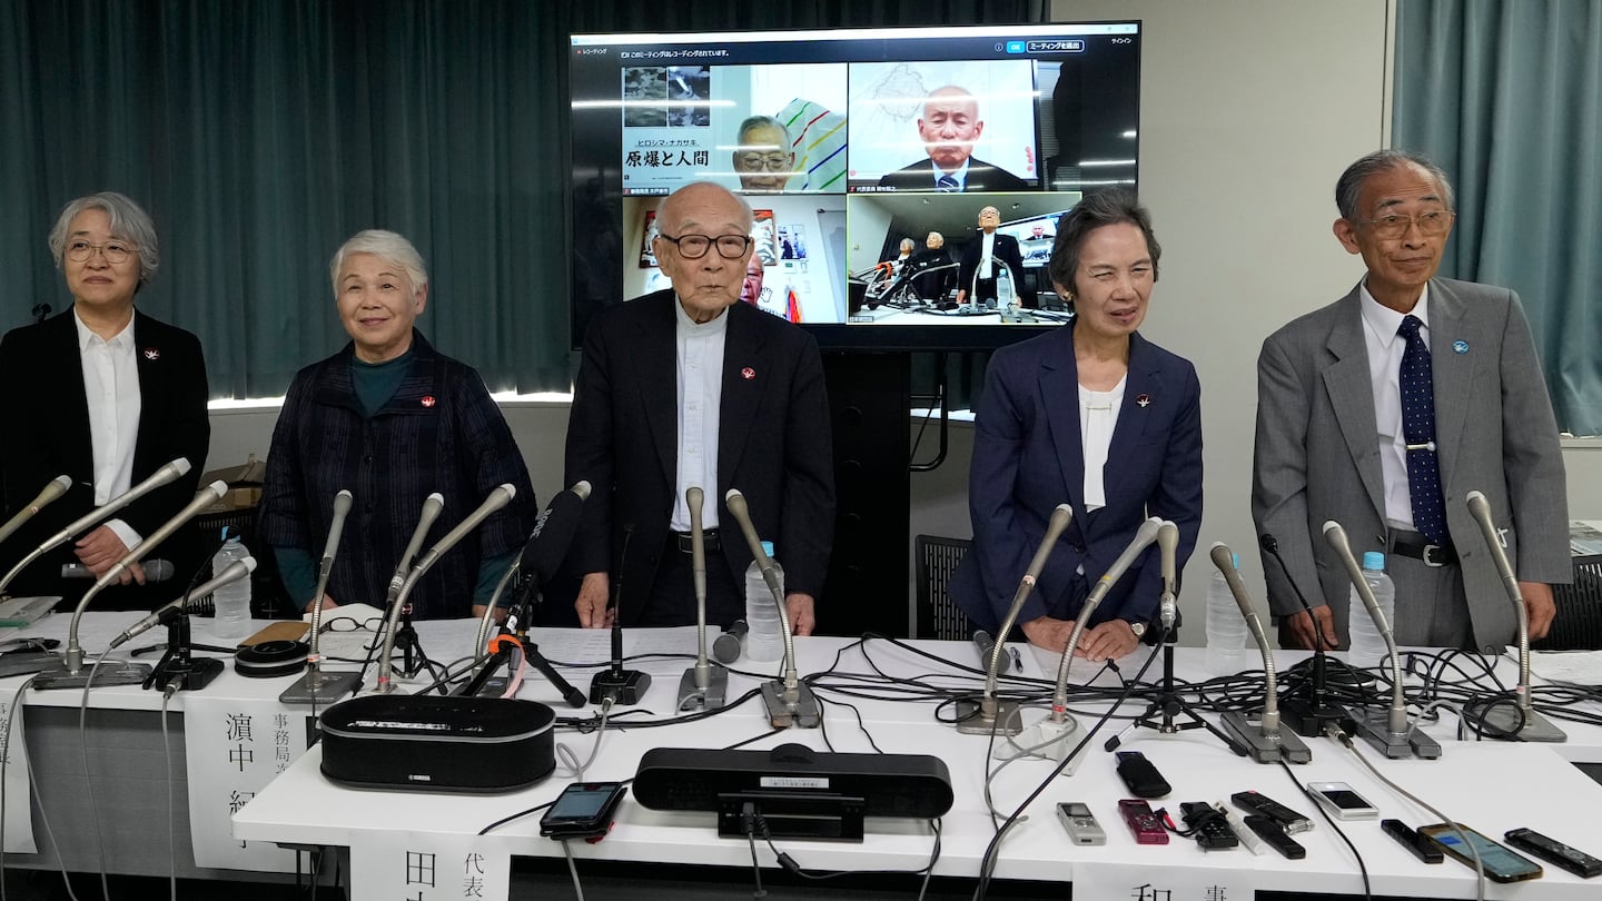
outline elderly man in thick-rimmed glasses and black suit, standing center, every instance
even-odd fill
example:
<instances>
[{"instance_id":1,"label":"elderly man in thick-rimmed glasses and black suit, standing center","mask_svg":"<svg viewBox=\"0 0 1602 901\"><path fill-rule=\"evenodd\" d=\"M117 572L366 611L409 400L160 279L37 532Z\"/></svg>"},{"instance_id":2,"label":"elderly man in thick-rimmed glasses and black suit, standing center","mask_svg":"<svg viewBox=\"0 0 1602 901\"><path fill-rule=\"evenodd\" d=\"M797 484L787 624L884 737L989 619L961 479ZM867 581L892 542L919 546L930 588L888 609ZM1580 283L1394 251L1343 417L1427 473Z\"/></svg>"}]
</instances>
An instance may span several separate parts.
<instances>
[{"instance_id":1,"label":"elderly man in thick-rimmed glasses and black suit, standing center","mask_svg":"<svg viewBox=\"0 0 1602 901\"><path fill-rule=\"evenodd\" d=\"M751 224L727 189L679 188L654 240L673 287L606 309L585 335L566 468L566 484L596 492L569 560L585 627L607 625L615 577L622 622L695 622L689 487L705 492L706 620L743 616L751 552L724 507L735 487L785 568L791 628L812 632L835 527L828 398L812 337L739 303Z\"/></svg>"}]
</instances>

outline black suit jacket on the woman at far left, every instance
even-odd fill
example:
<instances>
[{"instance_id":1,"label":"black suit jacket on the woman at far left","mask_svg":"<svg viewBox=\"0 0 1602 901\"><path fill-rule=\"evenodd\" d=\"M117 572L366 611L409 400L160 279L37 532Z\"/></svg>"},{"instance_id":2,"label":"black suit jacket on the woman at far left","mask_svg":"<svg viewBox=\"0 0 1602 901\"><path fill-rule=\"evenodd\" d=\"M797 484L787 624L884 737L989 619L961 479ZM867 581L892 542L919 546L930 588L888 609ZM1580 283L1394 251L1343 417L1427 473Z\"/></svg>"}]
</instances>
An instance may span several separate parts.
<instances>
[{"instance_id":1,"label":"black suit jacket on the woman at far left","mask_svg":"<svg viewBox=\"0 0 1602 901\"><path fill-rule=\"evenodd\" d=\"M199 338L135 311L133 353L139 372L139 434L133 447L131 484L139 484L176 457L186 457L191 467L183 478L111 516L149 537L194 499L205 470L211 422L207 418L205 358ZM40 542L95 508L90 409L70 309L6 332L0 340L0 390L10 394L11 409L8 434L0 441L5 516L30 503L50 479L59 475L72 478L67 494L0 547L0 561L10 569ZM93 606L146 609L152 603L170 601L183 593L183 582L200 566L205 553L194 529L181 529L149 556L173 563L171 582L143 590L133 584L109 587L95 596ZM6 593L82 596L88 582L66 584L61 579L61 564L75 560L72 542L67 542L24 569Z\"/></svg>"}]
</instances>

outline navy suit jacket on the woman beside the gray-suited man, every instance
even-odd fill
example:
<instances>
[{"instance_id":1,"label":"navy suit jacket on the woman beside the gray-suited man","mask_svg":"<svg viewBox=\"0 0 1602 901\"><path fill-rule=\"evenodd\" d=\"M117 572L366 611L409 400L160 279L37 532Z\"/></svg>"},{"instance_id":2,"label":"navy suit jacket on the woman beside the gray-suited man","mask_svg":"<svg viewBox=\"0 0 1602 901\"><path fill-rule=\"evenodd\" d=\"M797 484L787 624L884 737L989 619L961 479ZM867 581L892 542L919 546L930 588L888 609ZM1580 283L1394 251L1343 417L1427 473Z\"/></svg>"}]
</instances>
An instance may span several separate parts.
<instances>
[{"instance_id":1,"label":"navy suit jacket on the woman beside the gray-suited man","mask_svg":"<svg viewBox=\"0 0 1602 901\"><path fill-rule=\"evenodd\" d=\"M1202 386L1195 367L1129 337L1129 374L1104 481L1107 505L1085 513L1073 327L1001 348L990 359L974 425L968 503L974 545L952 595L974 624L995 630L1059 503L1073 521L1051 550L1019 622L1077 619L1088 587L1128 547L1147 516L1179 526L1179 568L1202 526ZM1083 574L1078 571L1083 569ZM1161 595L1155 545L1118 580L1093 616L1149 622Z\"/></svg>"}]
</instances>

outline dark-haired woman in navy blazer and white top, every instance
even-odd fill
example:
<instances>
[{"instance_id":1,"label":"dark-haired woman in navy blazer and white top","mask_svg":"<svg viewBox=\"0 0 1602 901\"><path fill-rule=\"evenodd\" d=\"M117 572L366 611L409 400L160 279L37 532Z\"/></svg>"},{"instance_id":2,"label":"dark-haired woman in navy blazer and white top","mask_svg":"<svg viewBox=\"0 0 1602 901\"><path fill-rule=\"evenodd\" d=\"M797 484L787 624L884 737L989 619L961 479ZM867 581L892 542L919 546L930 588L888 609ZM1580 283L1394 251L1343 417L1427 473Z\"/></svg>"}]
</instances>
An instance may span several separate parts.
<instances>
[{"instance_id":1,"label":"dark-haired woman in navy blazer and white top","mask_svg":"<svg viewBox=\"0 0 1602 901\"><path fill-rule=\"evenodd\" d=\"M1059 503L1073 507L1073 521L1017 619L1030 643L1053 651L1067 648L1091 587L1145 518L1179 526L1181 568L1195 548L1202 386L1189 361L1137 332L1160 257L1150 215L1133 196L1085 197L1057 223L1049 268L1073 324L990 359L968 484L974 543L952 584L977 627L993 632L1006 617ZM1152 547L1102 600L1075 654L1133 651L1160 593Z\"/></svg>"}]
</instances>

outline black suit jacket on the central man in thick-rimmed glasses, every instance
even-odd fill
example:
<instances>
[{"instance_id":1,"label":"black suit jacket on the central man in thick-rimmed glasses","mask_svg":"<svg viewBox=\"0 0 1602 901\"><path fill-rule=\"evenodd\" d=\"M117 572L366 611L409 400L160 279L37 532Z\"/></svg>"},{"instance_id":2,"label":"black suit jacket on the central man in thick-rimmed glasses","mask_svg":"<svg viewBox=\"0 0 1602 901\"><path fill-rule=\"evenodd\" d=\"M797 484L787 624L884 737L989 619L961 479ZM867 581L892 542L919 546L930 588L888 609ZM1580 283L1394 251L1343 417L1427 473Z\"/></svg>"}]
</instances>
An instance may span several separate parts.
<instances>
[{"instance_id":1,"label":"black suit jacket on the central man in thick-rimmed glasses","mask_svg":"<svg viewBox=\"0 0 1602 901\"><path fill-rule=\"evenodd\" d=\"M678 462L678 340L673 290L602 311L585 335L583 362L567 423L564 484L588 479L574 572L618 577L625 524L633 526L622 564L622 622L644 611L668 537ZM801 329L735 303L726 313L723 404L718 412L716 503L723 558L737 585L751 552L724 507L731 487L745 495L756 532L774 542L785 592L819 596L835 534L835 471L828 394L817 343Z\"/></svg>"}]
</instances>

